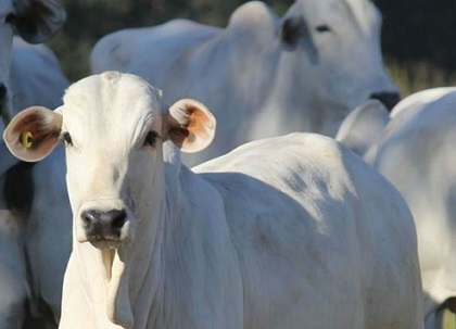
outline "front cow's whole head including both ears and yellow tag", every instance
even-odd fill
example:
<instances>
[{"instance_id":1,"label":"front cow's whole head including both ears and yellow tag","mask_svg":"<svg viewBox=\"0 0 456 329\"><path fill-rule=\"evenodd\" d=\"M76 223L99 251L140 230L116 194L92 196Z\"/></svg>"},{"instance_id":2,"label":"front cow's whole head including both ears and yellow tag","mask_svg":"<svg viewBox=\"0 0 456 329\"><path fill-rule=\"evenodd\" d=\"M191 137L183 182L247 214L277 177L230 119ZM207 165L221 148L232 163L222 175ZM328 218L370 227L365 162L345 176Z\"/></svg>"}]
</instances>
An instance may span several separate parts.
<instances>
[{"instance_id":1,"label":"front cow's whole head including both ears and yellow tag","mask_svg":"<svg viewBox=\"0 0 456 329\"><path fill-rule=\"evenodd\" d=\"M162 143L204 149L215 119L194 100L162 110L159 92L134 75L107 72L72 85L54 112L29 107L4 131L11 152L39 161L66 144L67 188L76 239L98 248L131 240L142 212L164 198Z\"/></svg>"}]
</instances>

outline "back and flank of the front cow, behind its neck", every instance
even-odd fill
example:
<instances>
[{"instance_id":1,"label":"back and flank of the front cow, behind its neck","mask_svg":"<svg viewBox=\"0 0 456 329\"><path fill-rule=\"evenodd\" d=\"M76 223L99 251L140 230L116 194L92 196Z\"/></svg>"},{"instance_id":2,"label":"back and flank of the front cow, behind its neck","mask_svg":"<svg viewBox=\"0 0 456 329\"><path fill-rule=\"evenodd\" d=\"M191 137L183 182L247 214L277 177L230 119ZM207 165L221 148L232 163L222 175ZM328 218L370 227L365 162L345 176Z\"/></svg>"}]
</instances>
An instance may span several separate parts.
<instances>
[{"instance_id":1,"label":"back and flank of the front cow, behind its neck","mask_svg":"<svg viewBox=\"0 0 456 329\"><path fill-rule=\"evenodd\" d=\"M204 177L225 201L245 328L420 328L415 227L397 191L330 139L271 141L194 168L228 172Z\"/></svg>"}]
</instances>

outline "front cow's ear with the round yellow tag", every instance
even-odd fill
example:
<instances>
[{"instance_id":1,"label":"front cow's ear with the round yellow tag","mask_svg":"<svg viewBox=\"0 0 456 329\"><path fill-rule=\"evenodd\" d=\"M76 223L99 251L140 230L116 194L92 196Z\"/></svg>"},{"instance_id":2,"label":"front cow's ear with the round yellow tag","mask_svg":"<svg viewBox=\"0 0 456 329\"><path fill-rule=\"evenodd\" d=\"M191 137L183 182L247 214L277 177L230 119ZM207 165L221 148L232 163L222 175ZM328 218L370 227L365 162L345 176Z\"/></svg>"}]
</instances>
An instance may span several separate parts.
<instances>
[{"instance_id":1,"label":"front cow's ear with the round yellow tag","mask_svg":"<svg viewBox=\"0 0 456 329\"><path fill-rule=\"evenodd\" d=\"M62 115L41 106L31 106L13 117L3 132L11 153L20 160L36 162L59 143Z\"/></svg>"}]
</instances>

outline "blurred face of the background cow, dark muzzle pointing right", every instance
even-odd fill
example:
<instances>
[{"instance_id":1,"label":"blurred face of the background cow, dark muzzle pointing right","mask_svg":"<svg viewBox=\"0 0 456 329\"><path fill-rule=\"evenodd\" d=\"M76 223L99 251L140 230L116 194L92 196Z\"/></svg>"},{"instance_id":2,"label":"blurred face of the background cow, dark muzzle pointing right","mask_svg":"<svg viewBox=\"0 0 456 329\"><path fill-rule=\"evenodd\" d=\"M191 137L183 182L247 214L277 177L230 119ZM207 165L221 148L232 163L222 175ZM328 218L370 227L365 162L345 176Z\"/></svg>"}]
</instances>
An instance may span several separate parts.
<instances>
[{"instance_id":1,"label":"blurred face of the background cow, dark muzzle pointing right","mask_svg":"<svg viewBox=\"0 0 456 329\"><path fill-rule=\"evenodd\" d=\"M391 109L398 91L383 67L380 27L367 0L296 1L279 27L284 69L302 86L295 90L343 115L370 98Z\"/></svg>"}]
</instances>

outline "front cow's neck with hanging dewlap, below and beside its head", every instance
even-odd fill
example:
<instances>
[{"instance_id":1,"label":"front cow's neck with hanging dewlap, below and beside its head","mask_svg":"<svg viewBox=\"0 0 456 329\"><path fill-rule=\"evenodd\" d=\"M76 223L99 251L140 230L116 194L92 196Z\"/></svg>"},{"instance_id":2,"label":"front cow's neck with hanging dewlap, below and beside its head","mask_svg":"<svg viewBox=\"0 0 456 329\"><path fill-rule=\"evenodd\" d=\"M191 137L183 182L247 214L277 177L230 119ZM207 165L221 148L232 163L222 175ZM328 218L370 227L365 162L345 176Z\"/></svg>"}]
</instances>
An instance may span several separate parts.
<instances>
[{"instance_id":1,"label":"front cow's neck with hanging dewlap, below and beside its head","mask_svg":"<svg viewBox=\"0 0 456 329\"><path fill-rule=\"evenodd\" d=\"M170 149L165 157L172 163L165 163L162 181L151 182L142 200L135 199L140 223L131 244L99 250L74 242L73 263L86 266L73 270L81 284L88 284L83 286L84 294L98 328L165 328L170 320L172 311L165 307L169 305L165 301L165 244L173 244L176 229L189 222L182 218L186 203L180 180L183 177L185 185L186 179L194 179L188 168L181 173L179 152Z\"/></svg>"}]
</instances>

